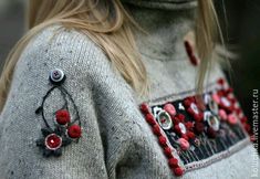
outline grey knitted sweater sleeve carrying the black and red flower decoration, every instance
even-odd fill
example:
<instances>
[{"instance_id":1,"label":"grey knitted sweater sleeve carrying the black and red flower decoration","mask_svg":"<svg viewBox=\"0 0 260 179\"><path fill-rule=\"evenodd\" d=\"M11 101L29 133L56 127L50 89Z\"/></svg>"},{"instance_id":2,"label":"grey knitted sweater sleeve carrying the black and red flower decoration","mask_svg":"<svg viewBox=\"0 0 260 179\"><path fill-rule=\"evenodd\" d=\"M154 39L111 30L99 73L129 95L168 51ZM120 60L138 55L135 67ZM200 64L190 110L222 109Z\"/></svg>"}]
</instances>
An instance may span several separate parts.
<instances>
[{"instance_id":1,"label":"grey knitted sweater sleeve carrying the black and red flower decoration","mask_svg":"<svg viewBox=\"0 0 260 179\"><path fill-rule=\"evenodd\" d=\"M0 116L3 178L107 178L92 95L97 54L80 33L55 30L35 36L14 69Z\"/></svg>"}]
</instances>

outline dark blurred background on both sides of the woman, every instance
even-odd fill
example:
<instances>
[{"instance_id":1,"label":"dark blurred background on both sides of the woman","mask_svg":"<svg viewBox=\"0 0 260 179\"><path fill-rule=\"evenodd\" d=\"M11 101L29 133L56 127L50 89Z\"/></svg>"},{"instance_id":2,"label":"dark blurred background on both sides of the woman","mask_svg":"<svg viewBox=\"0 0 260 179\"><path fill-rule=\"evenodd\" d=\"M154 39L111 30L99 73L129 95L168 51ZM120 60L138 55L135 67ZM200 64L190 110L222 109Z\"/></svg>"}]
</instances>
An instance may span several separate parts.
<instances>
[{"instance_id":1,"label":"dark blurred background on both sides of the woman","mask_svg":"<svg viewBox=\"0 0 260 179\"><path fill-rule=\"evenodd\" d=\"M226 46L239 55L231 60L229 81L251 120L252 90L260 90L260 0L216 0ZM0 71L22 35L24 1L0 1ZM258 98L259 101L259 98Z\"/></svg>"}]
</instances>

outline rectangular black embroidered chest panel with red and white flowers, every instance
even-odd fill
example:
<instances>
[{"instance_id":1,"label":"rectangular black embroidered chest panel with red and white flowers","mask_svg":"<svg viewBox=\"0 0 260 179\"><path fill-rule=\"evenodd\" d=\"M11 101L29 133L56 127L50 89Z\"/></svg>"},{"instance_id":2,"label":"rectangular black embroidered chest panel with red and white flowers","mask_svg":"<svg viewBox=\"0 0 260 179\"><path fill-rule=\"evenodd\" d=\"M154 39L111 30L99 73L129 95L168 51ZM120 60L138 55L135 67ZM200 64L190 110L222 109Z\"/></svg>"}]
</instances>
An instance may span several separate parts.
<instances>
[{"instance_id":1,"label":"rectangular black embroidered chest panel with red and white flowers","mask_svg":"<svg viewBox=\"0 0 260 179\"><path fill-rule=\"evenodd\" d=\"M232 90L222 78L214 86L204 94L204 103L198 103L195 96L186 96L154 106L141 105L176 176L216 162L248 143L247 117ZM178 157L171 156L171 150Z\"/></svg>"}]
</instances>

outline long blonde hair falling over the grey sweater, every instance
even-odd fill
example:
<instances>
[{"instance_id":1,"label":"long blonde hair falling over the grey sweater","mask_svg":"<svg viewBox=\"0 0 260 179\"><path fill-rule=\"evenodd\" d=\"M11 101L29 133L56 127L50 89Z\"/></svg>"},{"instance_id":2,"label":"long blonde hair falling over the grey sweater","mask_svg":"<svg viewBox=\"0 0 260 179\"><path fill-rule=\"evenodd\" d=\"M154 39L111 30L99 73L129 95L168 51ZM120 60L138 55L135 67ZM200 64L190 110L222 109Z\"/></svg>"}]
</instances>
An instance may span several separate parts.
<instances>
[{"instance_id":1,"label":"long blonde hair falling over the grey sweater","mask_svg":"<svg viewBox=\"0 0 260 179\"><path fill-rule=\"evenodd\" d=\"M195 29L198 54L202 60L201 86L216 36L216 13L211 0L199 0ZM136 49L133 29L138 27L121 0L30 0L29 31L9 53L0 78L0 112L8 97L14 66L29 41L44 28L62 23L90 36L108 56L115 69L139 94L148 88L147 74ZM201 87L200 87L201 88Z\"/></svg>"}]
</instances>

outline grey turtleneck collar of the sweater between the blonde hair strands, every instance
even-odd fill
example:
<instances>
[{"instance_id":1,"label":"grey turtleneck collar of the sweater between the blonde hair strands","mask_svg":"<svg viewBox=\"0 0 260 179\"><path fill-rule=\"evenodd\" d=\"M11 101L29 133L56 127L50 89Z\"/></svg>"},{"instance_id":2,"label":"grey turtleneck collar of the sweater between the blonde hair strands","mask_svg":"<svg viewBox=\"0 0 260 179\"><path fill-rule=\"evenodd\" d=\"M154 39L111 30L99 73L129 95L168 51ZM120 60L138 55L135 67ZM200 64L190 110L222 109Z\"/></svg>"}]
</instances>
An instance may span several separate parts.
<instances>
[{"instance_id":1,"label":"grey turtleneck collar of the sweater between the blonde hair strands","mask_svg":"<svg viewBox=\"0 0 260 179\"><path fill-rule=\"evenodd\" d=\"M127 7L134 20L147 32L135 32L139 52L154 60L178 59L178 53L184 52L185 35L194 29L196 1L125 1L127 2L124 6ZM176 3L170 3L170 1ZM180 1L186 3L180 3ZM166 4L170 6L166 7Z\"/></svg>"}]
</instances>

